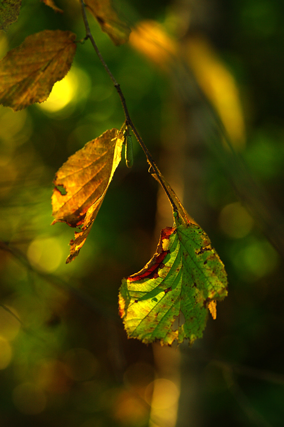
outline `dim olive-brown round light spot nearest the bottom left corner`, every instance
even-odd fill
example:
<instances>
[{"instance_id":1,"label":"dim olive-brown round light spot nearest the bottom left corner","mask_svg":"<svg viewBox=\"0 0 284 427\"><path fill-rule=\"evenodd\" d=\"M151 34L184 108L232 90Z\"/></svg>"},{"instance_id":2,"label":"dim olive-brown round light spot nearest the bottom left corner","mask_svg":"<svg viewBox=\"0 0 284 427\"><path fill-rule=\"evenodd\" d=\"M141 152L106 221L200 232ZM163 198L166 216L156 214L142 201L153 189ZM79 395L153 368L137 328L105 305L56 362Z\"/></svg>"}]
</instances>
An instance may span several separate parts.
<instances>
[{"instance_id":1,"label":"dim olive-brown round light spot nearest the bottom left corner","mask_svg":"<svg viewBox=\"0 0 284 427\"><path fill-rule=\"evenodd\" d=\"M34 415L45 409L46 396L40 387L25 382L14 388L13 403L21 413Z\"/></svg>"}]
</instances>

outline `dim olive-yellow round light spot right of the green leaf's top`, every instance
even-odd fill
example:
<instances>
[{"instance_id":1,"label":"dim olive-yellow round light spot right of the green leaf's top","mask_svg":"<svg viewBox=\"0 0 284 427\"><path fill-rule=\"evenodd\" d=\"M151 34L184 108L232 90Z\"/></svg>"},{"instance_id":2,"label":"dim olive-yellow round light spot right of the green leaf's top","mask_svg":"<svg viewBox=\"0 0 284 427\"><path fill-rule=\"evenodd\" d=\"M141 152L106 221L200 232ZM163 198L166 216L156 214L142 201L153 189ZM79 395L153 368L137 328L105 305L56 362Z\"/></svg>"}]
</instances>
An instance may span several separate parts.
<instances>
[{"instance_id":1,"label":"dim olive-yellow round light spot right of the green leaf's top","mask_svg":"<svg viewBox=\"0 0 284 427\"><path fill-rule=\"evenodd\" d=\"M249 234L254 221L240 202L227 204L220 212L219 225L229 237L240 239Z\"/></svg>"}]
</instances>

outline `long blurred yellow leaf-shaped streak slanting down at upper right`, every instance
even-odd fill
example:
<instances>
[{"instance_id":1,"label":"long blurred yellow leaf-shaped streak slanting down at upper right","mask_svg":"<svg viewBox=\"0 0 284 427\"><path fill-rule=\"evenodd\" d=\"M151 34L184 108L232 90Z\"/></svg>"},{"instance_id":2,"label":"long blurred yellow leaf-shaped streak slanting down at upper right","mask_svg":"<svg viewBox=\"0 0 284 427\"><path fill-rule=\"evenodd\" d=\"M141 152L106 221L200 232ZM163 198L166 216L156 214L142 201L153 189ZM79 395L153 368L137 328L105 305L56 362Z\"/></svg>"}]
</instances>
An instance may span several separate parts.
<instances>
[{"instance_id":1,"label":"long blurred yellow leaf-shaped streak slanting down at upper right","mask_svg":"<svg viewBox=\"0 0 284 427\"><path fill-rule=\"evenodd\" d=\"M233 146L242 148L244 117L234 77L202 37L188 38L185 56L202 90L215 106Z\"/></svg>"}]
</instances>

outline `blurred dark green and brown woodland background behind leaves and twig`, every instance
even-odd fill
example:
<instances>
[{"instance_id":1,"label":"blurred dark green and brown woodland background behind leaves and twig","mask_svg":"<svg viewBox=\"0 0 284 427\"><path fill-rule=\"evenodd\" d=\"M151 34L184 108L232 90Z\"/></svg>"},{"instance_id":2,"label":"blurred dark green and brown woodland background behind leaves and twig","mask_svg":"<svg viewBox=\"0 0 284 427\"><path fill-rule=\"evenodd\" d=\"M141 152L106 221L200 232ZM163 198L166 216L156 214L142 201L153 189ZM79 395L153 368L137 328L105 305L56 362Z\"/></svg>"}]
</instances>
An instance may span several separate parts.
<instances>
[{"instance_id":1,"label":"blurred dark green and brown woodland background behind leaves and twig","mask_svg":"<svg viewBox=\"0 0 284 427\"><path fill-rule=\"evenodd\" d=\"M0 35L1 57L44 29L71 30L82 39L78 3L58 0L57 6L63 15L23 1L17 23ZM160 228L172 225L135 141L134 167L118 168L89 241L65 264L73 230L50 226L54 174L87 141L124 121L91 44L79 44L68 84L58 86L54 101L69 99L65 106L35 104L18 113L0 108L0 424L280 427L284 275L267 236L283 225L284 4L123 0L116 6L131 26L145 19L163 24L180 48L202 35L234 78L245 143L232 160L185 57L158 68L133 45L115 47L90 18L143 140L223 260L229 296L192 348L158 350L126 339L117 313L121 278L143 267ZM260 185L254 200L240 159ZM266 197L271 215L263 227L255 200L266 205ZM180 390L178 411L174 400L160 406L165 414L175 408L176 420L155 414L157 378Z\"/></svg>"}]
</instances>

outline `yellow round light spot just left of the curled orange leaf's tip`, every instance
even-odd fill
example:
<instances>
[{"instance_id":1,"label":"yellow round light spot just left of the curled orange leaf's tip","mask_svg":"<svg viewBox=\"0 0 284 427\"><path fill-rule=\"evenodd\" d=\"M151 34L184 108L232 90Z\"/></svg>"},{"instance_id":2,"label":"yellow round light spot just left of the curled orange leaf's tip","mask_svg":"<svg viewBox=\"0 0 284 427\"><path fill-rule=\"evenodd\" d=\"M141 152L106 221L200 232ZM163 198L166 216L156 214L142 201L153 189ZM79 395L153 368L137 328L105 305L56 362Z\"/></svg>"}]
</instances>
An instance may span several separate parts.
<instances>
[{"instance_id":1,"label":"yellow round light spot just left of the curled orange leaf's tip","mask_svg":"<svg viewBox=\"0 0 284 427\"><path fill-rule=\"evenodd\" d=\"M27 256L34 267L46 273L52 273L59 267L63 251L58 238L37 237L31 242Z\"/></svg>"}]
</instances>

